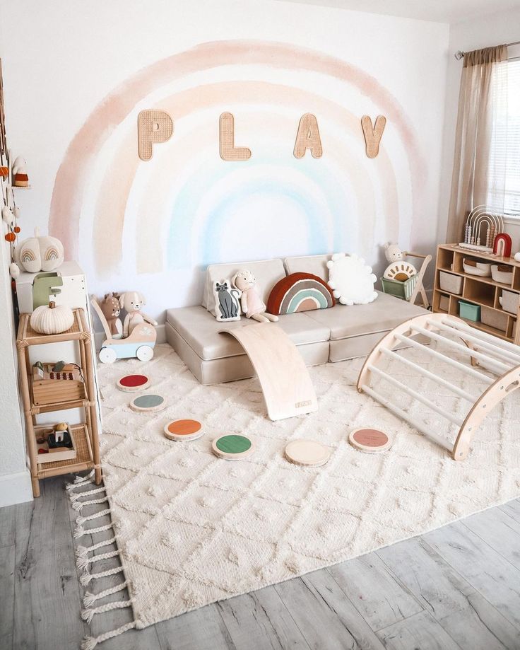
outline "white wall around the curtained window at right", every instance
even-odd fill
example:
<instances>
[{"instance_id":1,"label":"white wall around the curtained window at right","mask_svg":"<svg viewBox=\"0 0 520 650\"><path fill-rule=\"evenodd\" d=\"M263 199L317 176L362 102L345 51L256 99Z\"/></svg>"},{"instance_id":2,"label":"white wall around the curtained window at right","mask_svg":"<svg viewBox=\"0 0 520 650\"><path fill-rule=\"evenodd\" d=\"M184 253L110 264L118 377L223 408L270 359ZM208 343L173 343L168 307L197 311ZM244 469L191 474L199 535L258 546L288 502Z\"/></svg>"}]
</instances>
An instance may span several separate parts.
<instances>
[{"instance_id":1,"label":"white wall around the curtained window at right","mask_svg":"<svg viewBox=\"0 0 520 650\"><path fill-rule=\"evenodd\" d=\"M449 58L446 91L446 109L444 115L444 139L442 152L442 177L439 202L439 242L446 240L446 227L449 211L449 195L451 191L451 172L455 147L455 130L457 110L459 108L459 88L461 81L462 61L457 61L455 52L471 52L482 47L502 45L502 43L520 40L520 8L514 11L503 11L485 18L465 21L451 25L449 35ZM520 56L520 46L509 49L509 56ZM507 232L513 239L513 250L520 250L520 226L507 224Z\"/></svg>"}]
</instances>

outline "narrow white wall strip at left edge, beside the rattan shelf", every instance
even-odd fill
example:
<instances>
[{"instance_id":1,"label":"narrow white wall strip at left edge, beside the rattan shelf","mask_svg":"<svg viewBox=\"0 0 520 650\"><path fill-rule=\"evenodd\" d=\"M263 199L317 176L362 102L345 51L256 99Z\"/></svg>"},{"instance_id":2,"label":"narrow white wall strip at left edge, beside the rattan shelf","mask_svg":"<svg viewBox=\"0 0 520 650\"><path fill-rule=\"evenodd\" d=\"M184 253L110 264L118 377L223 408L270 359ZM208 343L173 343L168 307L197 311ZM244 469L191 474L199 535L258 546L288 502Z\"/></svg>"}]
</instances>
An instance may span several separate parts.
<instances>
[{"instance_id":1,"label":"narrow white wall strip at left edge, beside the rattan shelf","mask_svg":"<svg viewBox=\"0 0 520 650\"><path fill-rule=\"evenodd\" d=\"M0 13L0 57L5 51L2 47L1 17ZM4 228L2 228L0 238L0 507L32 499L18 401L16 332L13 322L11 278L8 274L10 261L9 245L4 240Z\"/></svg>"}]
</instances>

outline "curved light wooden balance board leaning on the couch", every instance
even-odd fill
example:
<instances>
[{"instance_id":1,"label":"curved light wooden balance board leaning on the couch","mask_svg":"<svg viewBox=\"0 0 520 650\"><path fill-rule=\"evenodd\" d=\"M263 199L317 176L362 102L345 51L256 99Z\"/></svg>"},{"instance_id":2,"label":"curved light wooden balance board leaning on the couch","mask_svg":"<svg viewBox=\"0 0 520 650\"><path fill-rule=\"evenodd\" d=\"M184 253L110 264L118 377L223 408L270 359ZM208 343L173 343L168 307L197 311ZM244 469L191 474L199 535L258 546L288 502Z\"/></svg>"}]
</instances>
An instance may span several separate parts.
<instances>
[{"instance_id":1,"label":"curved light wooden balance board leaning on the couch","mask_svg":"<svg viewBox=\"0 0 520 650\"><path fill-rule=\"evenodd\" d=\"M279 420L318 409L307 367L295 344L274 323L220 330L244 348L259 378L267 413Z\"/></svg>"}]
</instances>

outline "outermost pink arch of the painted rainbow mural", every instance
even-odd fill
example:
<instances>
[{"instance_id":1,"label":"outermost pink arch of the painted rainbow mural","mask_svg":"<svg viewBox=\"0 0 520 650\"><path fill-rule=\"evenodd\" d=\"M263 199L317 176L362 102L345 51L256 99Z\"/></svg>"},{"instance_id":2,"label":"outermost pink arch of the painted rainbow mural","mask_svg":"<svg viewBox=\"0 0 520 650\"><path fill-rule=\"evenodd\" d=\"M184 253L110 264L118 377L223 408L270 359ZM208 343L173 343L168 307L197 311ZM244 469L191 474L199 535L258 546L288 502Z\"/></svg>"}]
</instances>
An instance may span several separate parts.
<instances>
[{"instance_id":1,"label":"outermost pink arch of the painted rainbow mural","mask_svg":"<svg viewBox=\"0 0 520 650\"><path fill-rule=\"evenodd\" d=\"M206 42L161 59L124 81L90 113L69 144L54 181L49 233L64 243L70 257L76 257L78 253L79 216L88 172L95 163L98 151L114 129L134 110L138 102L158 87L203 69L232 64L305 69L353 84L384 110L387 120L394 123L408 149L410 169L420 185L425 175L425 164L413 129L396 98L374 77L329 54L295 45L255 40ZM172 117L175 119L175 115Z\"/></svg>"}]
</instances>

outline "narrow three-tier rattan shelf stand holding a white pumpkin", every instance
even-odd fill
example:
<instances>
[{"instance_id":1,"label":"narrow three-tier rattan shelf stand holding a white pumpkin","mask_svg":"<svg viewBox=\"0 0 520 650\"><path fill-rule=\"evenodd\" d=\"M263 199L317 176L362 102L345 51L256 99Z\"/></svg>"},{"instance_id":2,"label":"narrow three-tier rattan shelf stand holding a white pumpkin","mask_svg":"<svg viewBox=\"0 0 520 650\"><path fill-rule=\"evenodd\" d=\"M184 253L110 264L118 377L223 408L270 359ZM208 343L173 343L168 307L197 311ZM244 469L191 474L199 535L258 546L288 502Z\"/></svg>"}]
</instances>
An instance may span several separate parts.
<instances>
[{"instance_id":1,"label":"narrow three-tier rattan shelf stand holding a white pumpkin","mask_svg":"<svg viewBox=\"0 0 520 650\"><path fill-rule=\"evenodd\" d=\"M98 441L98 412L95 400L94 368L90 343L90 331L85 320L83 309L74 309L74 323L66 332L54 335L38 334L30 326L30 314L20 314L18 337L18 366L20 368L20 388L25 415L25 433L30 460L30 475L32 494L40 496L40 479L68 474L69 472L82 472L95 470L95 482L101 482L100 453ZM32 399L32 364L29 358L31 345L60 343L64 341L77 341L81 359L81 370L85 382L85 399L69 400L64 402L51 402L45 405L35 405ZM36 434L43 426L37 425L36 416L40 413L83 408L85 422L71 424L70 429L76 446L76 458L69 460L49 461L37 463Z\"/></svg>"}]
</instances>

